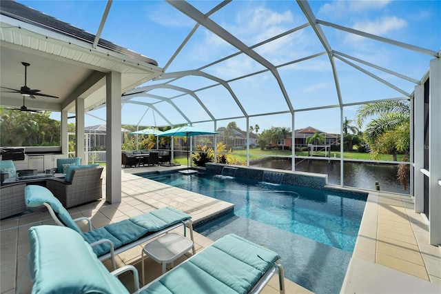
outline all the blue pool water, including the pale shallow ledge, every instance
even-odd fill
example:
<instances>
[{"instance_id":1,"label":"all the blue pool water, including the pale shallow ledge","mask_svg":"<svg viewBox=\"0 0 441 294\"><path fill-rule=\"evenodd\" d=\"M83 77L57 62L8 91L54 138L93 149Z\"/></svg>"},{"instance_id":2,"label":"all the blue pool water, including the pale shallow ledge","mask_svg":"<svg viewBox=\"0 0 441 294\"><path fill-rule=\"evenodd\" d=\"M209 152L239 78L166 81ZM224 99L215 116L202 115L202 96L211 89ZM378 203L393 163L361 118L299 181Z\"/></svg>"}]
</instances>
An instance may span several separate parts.
<instances>
[{"instance_id":1,"label":"all the blue pool water, including the pale shallow ledge","mask_svg":"<svg viewBox=\"0 0 441 294\"><path fill-rule=\"evenodd\" d=\"M236 233L282 257L285 277L314 293L338 293L366 197L208 173L143 175L233 203L234 214L196 228L216 240Z\"/></svg>"}]
</instances>

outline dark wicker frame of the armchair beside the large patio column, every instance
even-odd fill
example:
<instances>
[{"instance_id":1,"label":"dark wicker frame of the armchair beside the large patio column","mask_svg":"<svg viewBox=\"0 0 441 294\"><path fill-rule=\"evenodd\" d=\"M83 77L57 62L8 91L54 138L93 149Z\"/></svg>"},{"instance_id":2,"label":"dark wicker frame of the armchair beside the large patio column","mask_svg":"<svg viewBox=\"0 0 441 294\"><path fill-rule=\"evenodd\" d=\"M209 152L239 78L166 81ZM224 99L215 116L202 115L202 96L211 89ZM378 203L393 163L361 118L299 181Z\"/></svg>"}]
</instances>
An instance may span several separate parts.
<instances>
[{"instance_id":1,"label":"dark wicker frame of the armchair beside the large patio column","mask_svg":"<svg viewBox=\"0 0 441 294\"><path fill-rule=\"evenodd\" d=\"M72 170L72 180L48 179L46 188L65 208L79 206L103 197L103 167Z\"/></svg>"}]
</instances>

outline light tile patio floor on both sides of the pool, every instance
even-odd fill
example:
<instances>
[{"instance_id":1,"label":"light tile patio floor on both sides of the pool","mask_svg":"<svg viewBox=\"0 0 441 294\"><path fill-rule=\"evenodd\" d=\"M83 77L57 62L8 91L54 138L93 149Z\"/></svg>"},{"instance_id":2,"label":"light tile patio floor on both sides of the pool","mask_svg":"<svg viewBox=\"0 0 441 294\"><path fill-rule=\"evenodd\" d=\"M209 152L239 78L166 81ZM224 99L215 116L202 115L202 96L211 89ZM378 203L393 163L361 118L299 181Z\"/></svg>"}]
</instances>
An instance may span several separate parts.
<instances>
[{"instance_id":1,"label":"light tile patio floor on both sides of the pool","mask_svg":"<svg viewBox=\"0 0 441 294\"><path fill-rule=\"evenodd\" d=\"M144 179L132 173L170 170L173 167L123 168L121 203L104 200L71 208L72 218L86 216L94 227L139 215L164 206L173 206L192 215L194 222L228 209L232 204L189 191ZM105 175L103 175L105 177ZM103 181L105 182L105 181ZM105 190L103 186L103 190ZM104 195L105 193L103 193ZM28 228L54 224L44 208L0 222L0 293L14 293L22 280L21 293L30 293L28 275L22 278L29 251ZM182 233L179 232L178 233ZM196 251L212 243L195 232ZM191 256L187 253L174 264ZM146 260L146 282L161 274L161 265ZM121 253L117 266L133 264L141 275L141 246ZM283 261L282 261L283 262ZM105 262L107 268L110 264ZM123 277L124 282L130 277ZM384 281L384 282L383 282ZM130 285L130 282L127 282ZM286 280L286 293L310 293ZM130 286L128 286L130 288ZM265 293L278 293L273 278ZM413 202L407 195L371 192L363 215L353 258L349 264L344 293L441 293L441 251L429 245L428 228L420 215L413 213Z\"/></svg>"}]
</instances>

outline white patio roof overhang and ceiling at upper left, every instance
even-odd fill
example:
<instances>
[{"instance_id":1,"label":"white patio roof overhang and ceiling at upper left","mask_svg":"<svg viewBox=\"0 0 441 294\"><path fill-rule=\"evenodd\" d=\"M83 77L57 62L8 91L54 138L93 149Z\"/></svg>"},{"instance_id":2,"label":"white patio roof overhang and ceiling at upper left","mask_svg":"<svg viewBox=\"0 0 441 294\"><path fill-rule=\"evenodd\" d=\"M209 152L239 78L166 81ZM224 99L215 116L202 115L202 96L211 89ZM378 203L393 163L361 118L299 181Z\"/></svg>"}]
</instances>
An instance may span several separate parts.
<instances>
[{"instance_id":1,"label":"white patio roof overhang and ceiling at upper left","mask_svg":"<svg viewBox=\"0 0 441 294\"><path fill-rule=\"evenodd\" d=\"M30 63L28 86L59 97L26 99L28 108L74 112L75 99L83 98L85 111L92 110L105 103L108 72L121 72L126 92L163 71L154 59L100 39L99 32L92 35L15 1L1 2L0 41L1 86L24 85L24 61ZM19 93L1 92L0 99L2 106L23 104Z\"/></svg>"}]
</instances>

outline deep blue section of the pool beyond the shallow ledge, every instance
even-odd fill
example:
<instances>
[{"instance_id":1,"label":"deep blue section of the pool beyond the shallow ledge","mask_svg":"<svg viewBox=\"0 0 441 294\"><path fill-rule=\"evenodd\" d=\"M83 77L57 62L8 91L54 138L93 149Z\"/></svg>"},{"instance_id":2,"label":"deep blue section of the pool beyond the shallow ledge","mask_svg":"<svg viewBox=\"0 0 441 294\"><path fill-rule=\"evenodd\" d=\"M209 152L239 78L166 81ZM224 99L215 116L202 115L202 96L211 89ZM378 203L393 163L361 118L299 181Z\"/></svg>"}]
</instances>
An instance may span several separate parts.
<instances>
[{"instance_id":1,"label":"deep blue section of the pool beyond the shallow ledge","mask_svg":"<svg viewBox=\"0 0 441 294\"><path fill-rule=\"evenodd\" d=\"M234 204L234 213L352 252L366 197L209 173L144 175Z\"/></svg>"}]
</instances>

